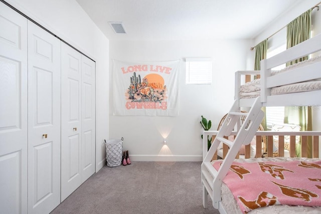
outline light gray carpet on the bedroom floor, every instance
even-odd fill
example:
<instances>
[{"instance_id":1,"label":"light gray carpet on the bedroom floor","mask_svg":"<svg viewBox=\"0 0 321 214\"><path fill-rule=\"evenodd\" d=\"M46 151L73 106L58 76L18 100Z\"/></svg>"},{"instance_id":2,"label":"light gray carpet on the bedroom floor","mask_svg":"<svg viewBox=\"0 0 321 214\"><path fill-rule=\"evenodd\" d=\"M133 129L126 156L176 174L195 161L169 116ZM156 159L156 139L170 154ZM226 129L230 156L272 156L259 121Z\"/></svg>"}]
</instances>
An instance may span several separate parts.
<instances>
[{"instance_id":1,"label":"light gray carpet on the bedroom floor","mask_svg":"<svg viewBox=\"0 0 321 214\"><path fill-rule=\"evenodd\" d=\"M212 213L202 206L201 162L104 166L51 213Z\"/></svg>"}]
</instances>

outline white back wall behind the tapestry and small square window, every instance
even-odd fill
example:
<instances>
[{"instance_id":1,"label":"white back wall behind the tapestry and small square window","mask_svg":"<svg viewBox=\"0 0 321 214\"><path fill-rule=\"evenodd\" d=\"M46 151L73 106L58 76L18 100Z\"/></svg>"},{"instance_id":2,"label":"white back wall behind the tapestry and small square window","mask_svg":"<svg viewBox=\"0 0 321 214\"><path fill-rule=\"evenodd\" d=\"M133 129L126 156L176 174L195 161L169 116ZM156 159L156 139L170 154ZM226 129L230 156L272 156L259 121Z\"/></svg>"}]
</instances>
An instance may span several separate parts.
<instances>
[{"instance_id":1,"label":"white back wall behind the tapestry and small square window","mask_svg":"<svg viewBox=\"0 0 321 214\"><path fill-rule=\"evenodd\" d=\"M112 59L164 61L181 59L178 116L113 116L110 104L110 137L124 137L123 148L133 160L202 160L201 115L216 130L234 101L234 72L246 69L251 40L110 41L110 103ZM185 84L185 57L212 57L211 85ZM163 147L163 132L169 132Z\"/></svg>"}]
</instances>

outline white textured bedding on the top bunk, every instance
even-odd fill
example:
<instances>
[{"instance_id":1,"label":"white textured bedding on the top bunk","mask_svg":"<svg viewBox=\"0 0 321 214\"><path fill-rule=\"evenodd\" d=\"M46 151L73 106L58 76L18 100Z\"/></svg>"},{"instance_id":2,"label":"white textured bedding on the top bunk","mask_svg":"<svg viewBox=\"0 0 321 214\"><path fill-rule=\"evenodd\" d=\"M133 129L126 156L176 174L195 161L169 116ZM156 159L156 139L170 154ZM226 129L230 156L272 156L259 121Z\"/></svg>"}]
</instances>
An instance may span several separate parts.
<instances>
[{"instance_id":1,"label":"white textured bedding on the top bunk","mask_svg":"<svg viewBox=\"0 0 321 214\"><path fill-rule=\"evenodd\" d=\"M287 66L281 70L272 71L271 75L276 75L282 72L289 71L290 69L299 68L302 66L306 66L308 64L312 64L315 62L321 61L321 56L316 56L310 58L308 60L304 60L298 62L296 64ZM310 90L319 90L321 89L321 79L310 80L306 82L298 82L294 84L282 85L279 87L274 87L271 89L271 95L276 94L284 94L284 93L295 93L295 92L303 92ZM255 79L253 81L247 82L240 87L240 98L252 98L260 95L260 79Z\"/></svg>"}]
</instances>

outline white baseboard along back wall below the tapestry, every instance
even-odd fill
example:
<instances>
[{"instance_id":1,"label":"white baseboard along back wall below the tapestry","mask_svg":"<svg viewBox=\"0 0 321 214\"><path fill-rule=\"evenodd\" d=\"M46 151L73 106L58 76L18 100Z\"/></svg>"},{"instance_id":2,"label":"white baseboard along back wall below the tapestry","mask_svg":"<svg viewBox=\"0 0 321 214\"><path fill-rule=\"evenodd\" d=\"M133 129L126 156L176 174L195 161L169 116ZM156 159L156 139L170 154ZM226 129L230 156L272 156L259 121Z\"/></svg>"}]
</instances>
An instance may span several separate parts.
<instances>
[{"instance_id":1,"label":"white baseboard along back wall below the tapestry","mask_svg":"<svg viewBox=\"0 0 321 214\"><path fill-rule=\"evenodd\" d=\"M202 161L202 155L129 155L131 161Z\"/></svg>"}]
</instances>

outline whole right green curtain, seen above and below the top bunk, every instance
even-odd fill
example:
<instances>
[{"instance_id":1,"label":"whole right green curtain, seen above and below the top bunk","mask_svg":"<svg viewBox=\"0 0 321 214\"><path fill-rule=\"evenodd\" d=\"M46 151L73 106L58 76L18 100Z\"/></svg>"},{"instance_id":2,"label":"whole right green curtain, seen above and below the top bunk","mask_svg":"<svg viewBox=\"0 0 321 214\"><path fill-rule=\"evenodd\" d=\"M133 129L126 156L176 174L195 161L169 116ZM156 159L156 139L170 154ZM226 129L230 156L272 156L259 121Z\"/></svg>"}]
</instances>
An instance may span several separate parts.
<instances>
[{"instance_id":1,"label":"whole right green curtain, seen above and below the top bunk","mask_svg":"<svg viewBox=\"0 0 321 214\"><path fill-rule=\"evenodd\" d=\"M292 47L308 38L311 32L311 11L307 10L286 26L286 48ZM298 58L286 63L286 66L303 61L308 56ZM301 126L301 130L312 130L312 111L310 106L287 106L284 108L284 123ZM301 155L301 149L296 150L296 155ZM307 156L312 157L312 139L307 140Z\"/></svg>"}]
</instances>

